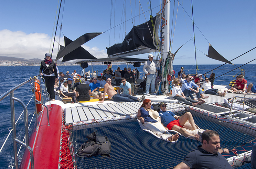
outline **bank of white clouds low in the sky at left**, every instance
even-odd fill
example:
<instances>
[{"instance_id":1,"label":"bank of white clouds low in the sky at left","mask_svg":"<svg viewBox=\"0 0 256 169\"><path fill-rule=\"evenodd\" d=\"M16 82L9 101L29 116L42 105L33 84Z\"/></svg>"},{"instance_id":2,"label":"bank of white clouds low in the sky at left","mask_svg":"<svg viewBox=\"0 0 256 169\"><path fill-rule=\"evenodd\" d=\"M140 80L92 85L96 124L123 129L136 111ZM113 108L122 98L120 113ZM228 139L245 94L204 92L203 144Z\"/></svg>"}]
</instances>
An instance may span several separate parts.
<instances>
[{"instance_id":1,"label":"bank of white clouds low in the sky at left","mask_svg":"<svg viewBox=\"0 0 256 169\"><path fill-rule=\"evenodd\" d=\"M63 38L61 38L60 43L64 44ZM49 52L50 46L52 48L51 37L47 34L26 34L22 31L0 30L0 56L43 59L44 54ZM57 55L56 42L54 46L53 58ZM90 48L85 45L83 47L97 58L107 57L105 50L99 50L97 47Z\"/></svg>"}]
</instances>

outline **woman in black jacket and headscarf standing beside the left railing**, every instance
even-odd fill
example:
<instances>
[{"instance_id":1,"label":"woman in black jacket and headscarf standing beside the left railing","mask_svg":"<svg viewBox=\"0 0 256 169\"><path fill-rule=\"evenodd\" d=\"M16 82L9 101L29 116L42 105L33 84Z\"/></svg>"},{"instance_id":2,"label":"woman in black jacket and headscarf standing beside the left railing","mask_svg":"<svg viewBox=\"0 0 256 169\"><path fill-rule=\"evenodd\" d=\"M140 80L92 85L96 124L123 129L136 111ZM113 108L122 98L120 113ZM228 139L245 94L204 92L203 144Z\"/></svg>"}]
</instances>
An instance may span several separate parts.
<instances>
[{"instance_id":1,"label":"woman in black jacket and headscarf standing beside the left railing","mask_svg":"<svg viewBox=\"0 0 256 169\"><path fill-rule=\"evenodd\" d=\"M58 80L56 64L52 60L52 55L50 53L45 53L44 56L45 58L44 61L41 62L39 72L45 80L45 86L47 88L47 92L50 94L50 99L55 101L54 84L55 81Z\"/></svg>"}]
</instances>

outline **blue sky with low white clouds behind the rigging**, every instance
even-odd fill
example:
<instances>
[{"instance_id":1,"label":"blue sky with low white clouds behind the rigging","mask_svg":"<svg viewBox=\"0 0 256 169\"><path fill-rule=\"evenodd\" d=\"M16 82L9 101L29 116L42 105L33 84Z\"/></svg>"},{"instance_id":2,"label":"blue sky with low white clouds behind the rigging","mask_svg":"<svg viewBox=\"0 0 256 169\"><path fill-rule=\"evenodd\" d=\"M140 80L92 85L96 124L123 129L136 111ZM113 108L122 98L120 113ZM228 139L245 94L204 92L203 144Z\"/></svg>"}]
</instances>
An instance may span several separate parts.
<instances>
[{"instance_id":1,"label":"blue sky with low white clouds behind the rigging","mask_svg":"<svg viewBox=\"0 0 256 169\"><path fill-rule=\"evenodd\" d=\"M110 28L111 2L113 3ZM149 20L149 1L140 0L64 0L59 25L62 23L60 44L64 45L63 34L75 40L79 36L89 32L105 32L90 40L83 47L95 57L106 57L105 47L114 43L121 43L126 34L134 25ZM57 0L44 1L0 1L0 56L22 58L44 58L44 53L49 52L55 15L58 7ZM160 11L160 0L151 0L152 14L155 16ZM64 12L63 12L64 4ZM125 7L123 8L123 5ZM177 21L173 36L172 52L193 37L193 24L191 1L180 0L170 3L171 20L174 7L174 21L178 8ZM185 13L188 13L188 15ZM146 19L142 13L145 12ZM198 64L222 64L222 62L207 58L208 42L227 60L231 60L250 49L256 47L256 1L216 0L193 1L195 27L195 43ZM63 17L62 17L63 13ZM135 20L130 20L137 16ZM139 16L138 16L139 15ZM125 16L125 18L124 18ZM57 20L57 17L56 17ZM115 22L114 22L115 21ZM171 22L171 21L170 21ZM115 28L114 25L116 26ZM57 54L57 43L60 36L58 28L53 58ZM119 36L120 35L120 36ZM207 39L205 39L205 38ZM110 43L110 44L109 44ZM147 58L148 54L137 55L138 58ZM234 64L244 64L256 56L256 49L233 61ZM174 64L195 64L195 52L193 40L186 43L175 56ZM256 64L256 61L251 64Z\"/></svg>"}]
</instances>

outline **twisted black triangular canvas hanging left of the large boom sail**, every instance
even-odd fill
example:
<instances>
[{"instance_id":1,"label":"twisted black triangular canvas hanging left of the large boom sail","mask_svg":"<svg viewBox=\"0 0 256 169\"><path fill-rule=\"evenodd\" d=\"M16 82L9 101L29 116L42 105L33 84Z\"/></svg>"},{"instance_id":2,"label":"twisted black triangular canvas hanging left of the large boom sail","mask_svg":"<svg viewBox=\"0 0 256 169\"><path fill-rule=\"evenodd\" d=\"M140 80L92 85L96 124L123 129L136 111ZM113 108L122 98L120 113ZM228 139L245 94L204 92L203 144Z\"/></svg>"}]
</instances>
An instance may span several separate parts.
<instances>
[{"instance_id":1,"label":"twisted black triangular canvas hanging left of the large boom sail","mask_svg":"<svg viewBox=\"0 0 256 169\"><path fill-rule=\"evenodd\" d=\"M80 36L74 41L64 36L65 47L61 47L60 51L57 54L56 61L62 57L64 57L62 62L74 59L96 59L96 57L94 57L92 54L82 48L81 45L100 34L102 33L87 33Z\"/></svg>"}]
</instances>

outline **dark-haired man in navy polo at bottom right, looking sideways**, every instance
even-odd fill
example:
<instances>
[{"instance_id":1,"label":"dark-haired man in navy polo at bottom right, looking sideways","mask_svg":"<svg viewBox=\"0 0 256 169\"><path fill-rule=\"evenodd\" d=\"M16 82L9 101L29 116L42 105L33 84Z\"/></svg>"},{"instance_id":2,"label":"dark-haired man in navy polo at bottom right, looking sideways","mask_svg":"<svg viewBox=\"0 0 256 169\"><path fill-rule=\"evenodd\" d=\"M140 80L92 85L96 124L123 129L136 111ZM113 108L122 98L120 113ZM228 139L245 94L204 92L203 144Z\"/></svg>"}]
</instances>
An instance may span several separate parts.
<instances>
[{"instance_id":1,"label":"dark-haired man in navy polo at bottom right, looking sideways","mask_svg":"<svg viewBox=\"0 0 256 169\"><path fill-rule=\"evenodd\" d=\"M227 159L221 154L229 154L227 148L221 148L220 136L217 131L205 130L202 133L202 145L192 150L174 169L232 169Z\"/></svg>"}]
</instances>

